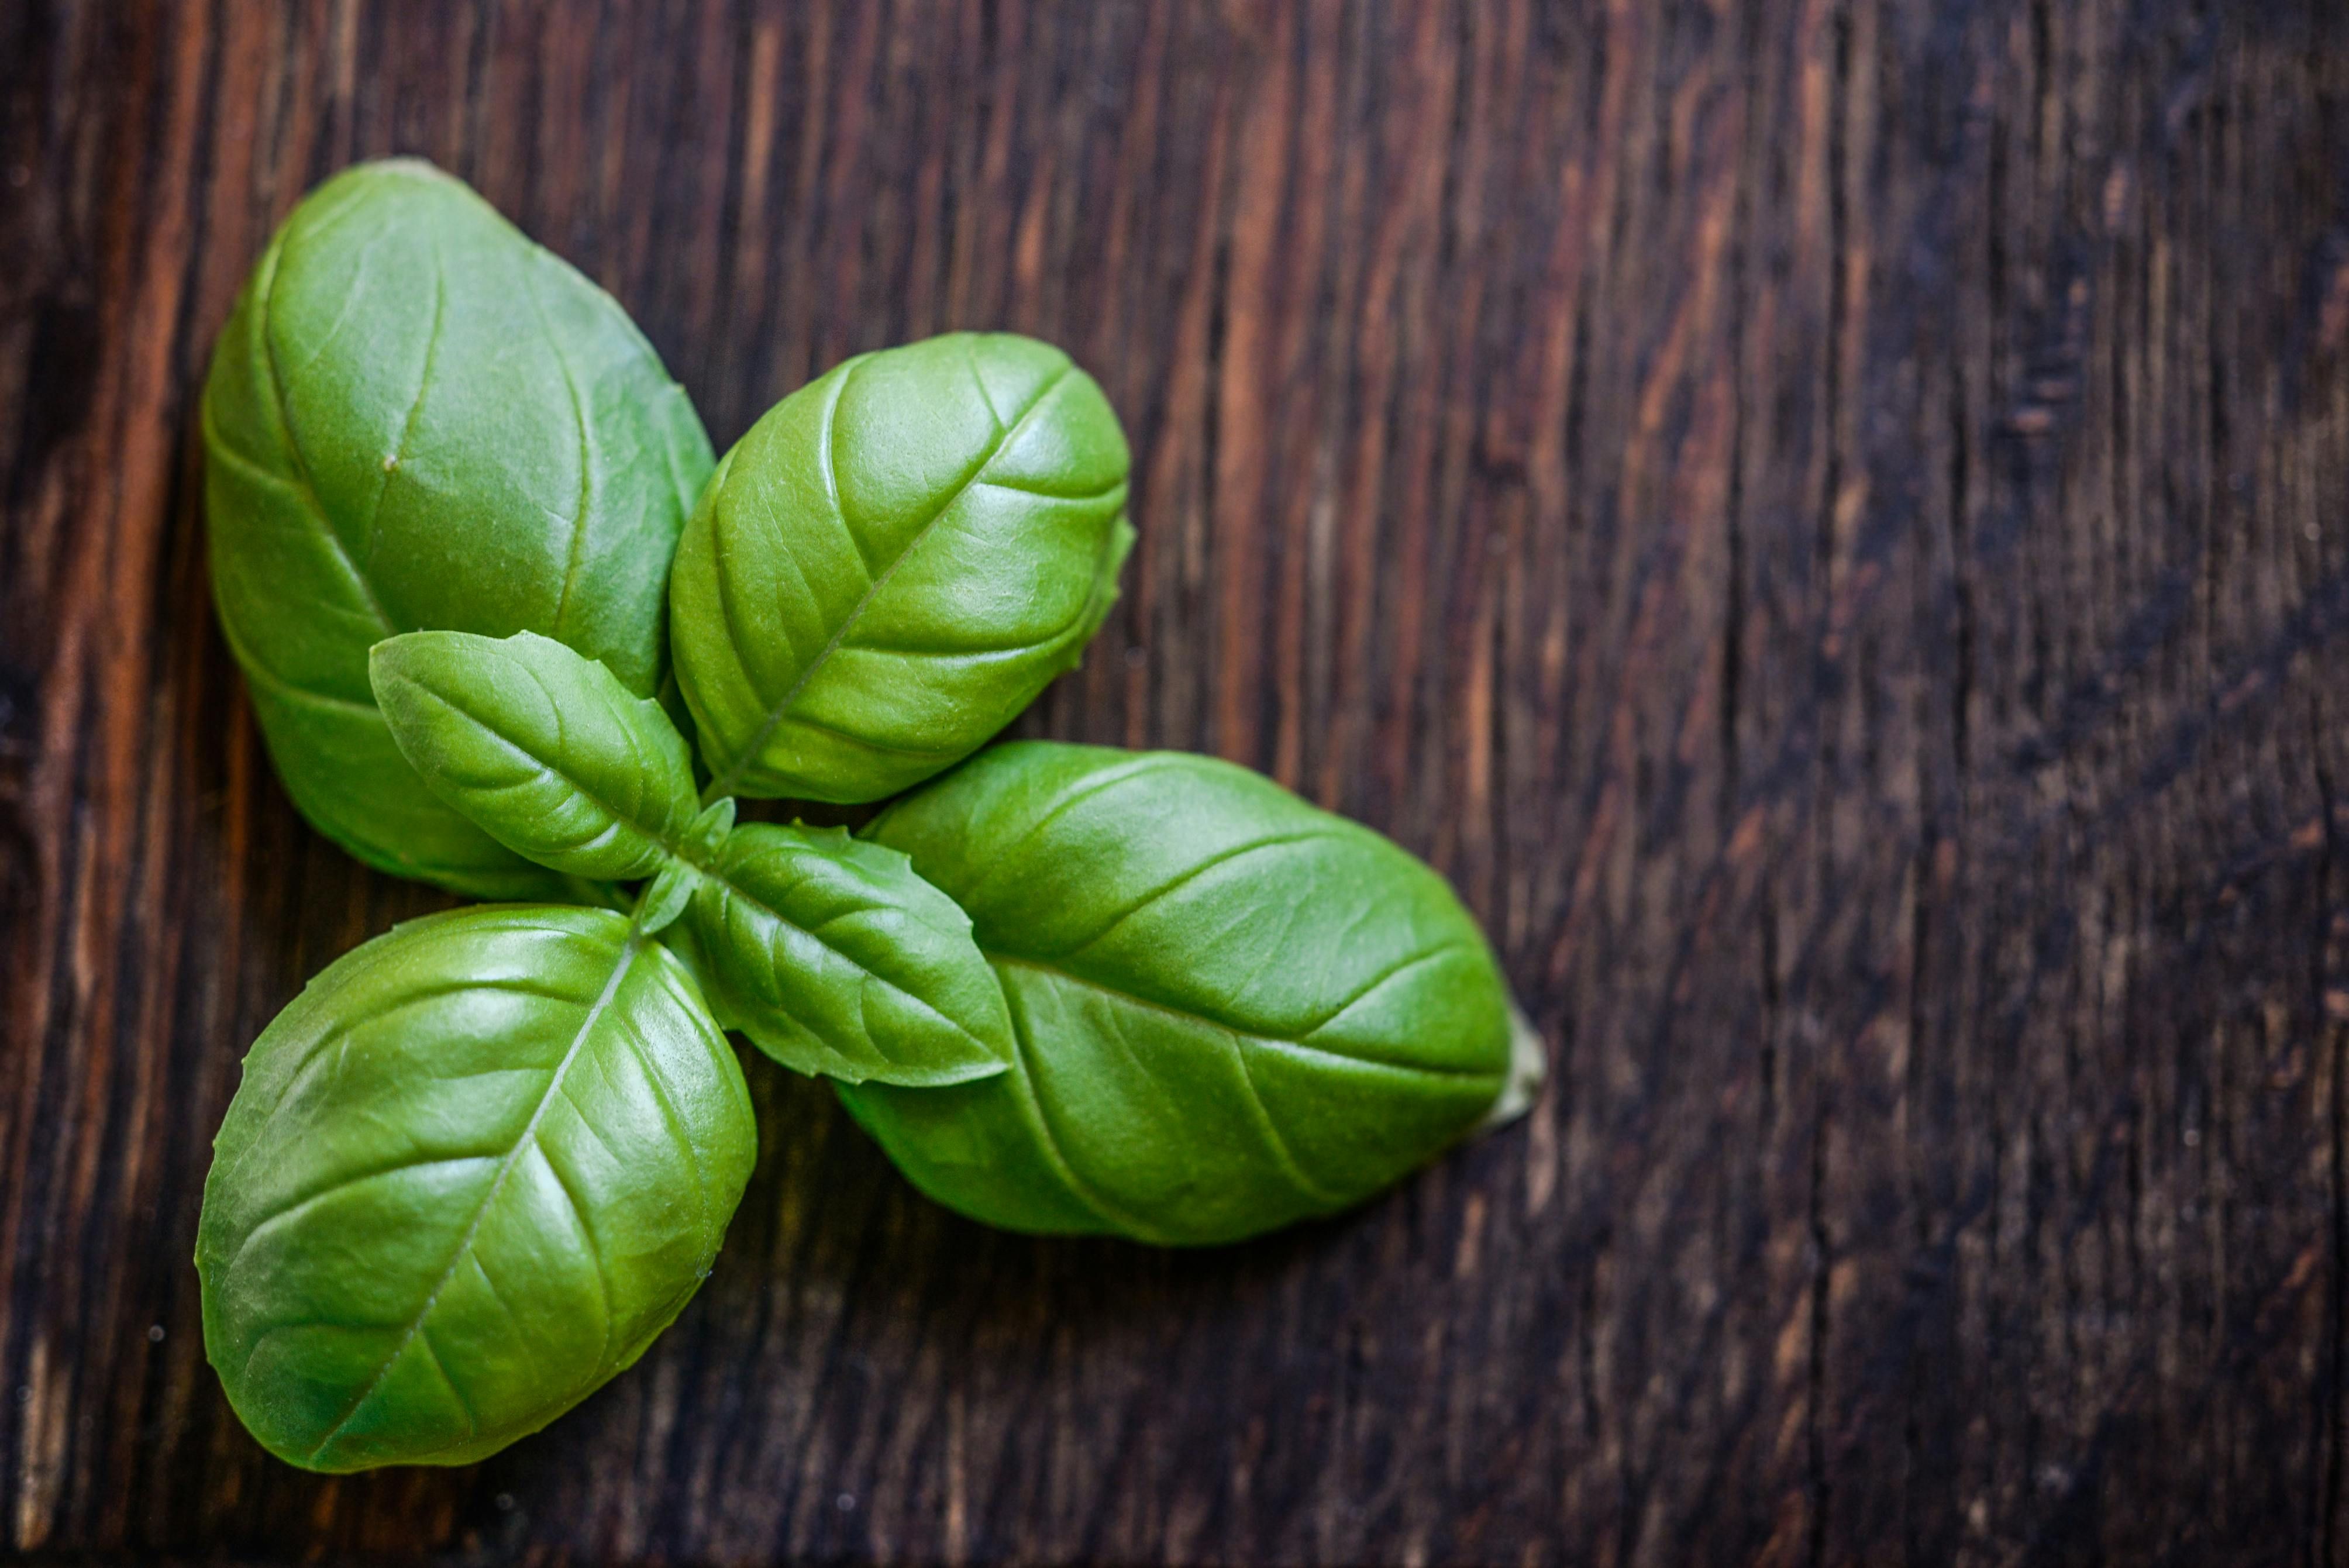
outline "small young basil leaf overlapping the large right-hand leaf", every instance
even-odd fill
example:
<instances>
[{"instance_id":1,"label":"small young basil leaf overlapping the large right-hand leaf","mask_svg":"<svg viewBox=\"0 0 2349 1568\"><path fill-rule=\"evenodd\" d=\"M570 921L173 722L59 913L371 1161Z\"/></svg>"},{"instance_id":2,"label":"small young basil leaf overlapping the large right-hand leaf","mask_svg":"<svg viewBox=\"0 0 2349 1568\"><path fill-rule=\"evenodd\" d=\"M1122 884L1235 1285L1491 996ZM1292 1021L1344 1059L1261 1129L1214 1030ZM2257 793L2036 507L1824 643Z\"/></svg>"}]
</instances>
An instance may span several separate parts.
<instances>
[{"instance_id":1,"label":"small young basil leaf overlapping the large right-hand leaf","mask_svg":"<svg viewBox=\"0 0 2349 1568\"><path fill-rule=\"evenodd\" d=\"M958 1084L1012 1059L970 915L843 829L735 829L684 925L719 1014L787 1068Z\"/></svg>"}]
</instances>

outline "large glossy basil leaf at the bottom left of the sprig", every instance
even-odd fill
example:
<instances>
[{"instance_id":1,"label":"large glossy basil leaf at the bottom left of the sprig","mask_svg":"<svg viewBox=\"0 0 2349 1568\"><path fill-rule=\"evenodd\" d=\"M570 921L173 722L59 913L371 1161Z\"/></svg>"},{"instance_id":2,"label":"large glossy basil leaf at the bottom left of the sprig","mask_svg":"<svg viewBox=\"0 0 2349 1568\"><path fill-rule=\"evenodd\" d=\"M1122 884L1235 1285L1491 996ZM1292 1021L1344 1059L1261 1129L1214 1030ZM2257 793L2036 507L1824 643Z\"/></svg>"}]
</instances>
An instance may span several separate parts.
<instances>
[{"instance_id":1,"label":"large glossy basil leaf at the bottom left of the sprig","mask_svg":"<svg viewBox=\"0 0 2349 1568\"><path fill-rule=\"evenodd\" d=\"M204 1352L294 1465L479 1460L677 1317L754 1131L691 976L625 918L402 925L244 1059L197 1225Z\"/></svg>"}]
</instances>

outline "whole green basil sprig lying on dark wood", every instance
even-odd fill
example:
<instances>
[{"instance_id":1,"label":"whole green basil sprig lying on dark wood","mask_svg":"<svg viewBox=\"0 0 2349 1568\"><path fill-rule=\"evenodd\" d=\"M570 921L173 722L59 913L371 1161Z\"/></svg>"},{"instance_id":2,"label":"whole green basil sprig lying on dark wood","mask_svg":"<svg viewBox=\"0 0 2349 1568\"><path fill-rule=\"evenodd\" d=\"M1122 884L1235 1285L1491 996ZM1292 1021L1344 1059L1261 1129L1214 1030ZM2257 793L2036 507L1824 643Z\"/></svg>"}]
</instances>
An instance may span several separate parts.
<instances>
[{"instance_id":1,"label":"whole green basil sprig lying on dark wood","mask_svg":"<svg viewBox=\"0 0 2349 1568\"><path fill-rule=\"evenodd\" d=\"M204 1345L289 1462L470 1462L630 1366L749 1178L728 1028L1031 1232L1231 1242L1525 1108L1492 948L1386 838L1207 758L980 751L1132 542L1059 350L862 354L712 465L611 298L395 160L270 242L204 448L287 793L533 899L376 937L244 1059ZM895 800L848 833L747 796Z\"/></svg>"}]
</instances>

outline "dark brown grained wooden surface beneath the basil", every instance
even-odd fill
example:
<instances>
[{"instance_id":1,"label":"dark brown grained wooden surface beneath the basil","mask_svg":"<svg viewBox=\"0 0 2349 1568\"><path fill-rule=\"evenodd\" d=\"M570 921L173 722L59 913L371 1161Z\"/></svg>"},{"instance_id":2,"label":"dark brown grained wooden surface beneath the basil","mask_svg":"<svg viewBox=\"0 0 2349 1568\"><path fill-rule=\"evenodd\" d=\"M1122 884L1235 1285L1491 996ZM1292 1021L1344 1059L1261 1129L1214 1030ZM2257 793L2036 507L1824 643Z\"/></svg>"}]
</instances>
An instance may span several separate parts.
<instances>
[{"instance_id":1,"label":"dark brown grained wooden surface beneath the basil","mask_svg":"<svg viewBox=\"0 0 2349 1568\"><path fill-rule=\"evenodd\" d=\"M2349 7L12 0L0 115L0 1554L2349 1561ZM1167 1256L947 1218L754 1061L637 1371L263 1458L209 1136L442 899L268 772L193 399L390 150L721 446L1069 345L1142 542L1022 730L1428 854L1541 1108Z\"/></svg>"}]
</instances>

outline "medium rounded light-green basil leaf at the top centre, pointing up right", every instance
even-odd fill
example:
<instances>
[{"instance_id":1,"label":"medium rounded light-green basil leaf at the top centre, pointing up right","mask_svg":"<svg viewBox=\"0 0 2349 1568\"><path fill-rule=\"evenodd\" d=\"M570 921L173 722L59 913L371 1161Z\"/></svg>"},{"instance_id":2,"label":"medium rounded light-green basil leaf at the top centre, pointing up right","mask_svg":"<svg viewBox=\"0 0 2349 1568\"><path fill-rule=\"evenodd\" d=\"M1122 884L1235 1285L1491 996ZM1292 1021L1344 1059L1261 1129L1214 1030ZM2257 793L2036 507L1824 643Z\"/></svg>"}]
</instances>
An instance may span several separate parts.
<instances>
[{"instance_id":1,"label":"medium rounded light-green basil leaf at the top centre, pointing up right","mask_svg":"<svg viewBox=\"0 0 2349 1568\"><path fill-rule=\"evenodd\" d=\"M1132 545L1125 434L1008 333L862 354L775 404L669 582L714 793L879 800L1073 669Z\"/></svg>"}]
</instances>

